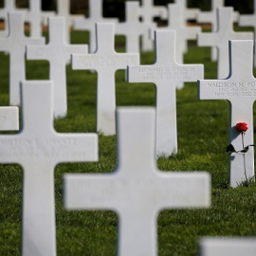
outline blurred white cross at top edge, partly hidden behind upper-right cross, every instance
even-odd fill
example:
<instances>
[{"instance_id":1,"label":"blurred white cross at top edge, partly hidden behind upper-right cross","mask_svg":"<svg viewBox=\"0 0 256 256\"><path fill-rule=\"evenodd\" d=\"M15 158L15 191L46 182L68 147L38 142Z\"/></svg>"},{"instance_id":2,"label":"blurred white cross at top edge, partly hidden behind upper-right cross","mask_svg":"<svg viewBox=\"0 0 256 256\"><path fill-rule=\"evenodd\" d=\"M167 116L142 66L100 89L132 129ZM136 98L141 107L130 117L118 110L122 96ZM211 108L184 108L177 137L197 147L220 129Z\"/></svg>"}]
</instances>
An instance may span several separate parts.
<instances>
[{"instance_id":1,"label":"blurred white cross at top edge, partly hidden behind upper-right cross","mask_svg":"<svg viewBox=\"0 0 256 256\"><path fill-rule=\"evenodd\" d=\"M197 15L197 22L210 23L211 31L217 30L217 9L225 7L224 0L211 0L210 11L200 11ZM237 11L233 12L233 22L238 21L239 14ZM217 61L217 49L211 47L210 59L212 62Z\"/></svg>"}]
</instances>

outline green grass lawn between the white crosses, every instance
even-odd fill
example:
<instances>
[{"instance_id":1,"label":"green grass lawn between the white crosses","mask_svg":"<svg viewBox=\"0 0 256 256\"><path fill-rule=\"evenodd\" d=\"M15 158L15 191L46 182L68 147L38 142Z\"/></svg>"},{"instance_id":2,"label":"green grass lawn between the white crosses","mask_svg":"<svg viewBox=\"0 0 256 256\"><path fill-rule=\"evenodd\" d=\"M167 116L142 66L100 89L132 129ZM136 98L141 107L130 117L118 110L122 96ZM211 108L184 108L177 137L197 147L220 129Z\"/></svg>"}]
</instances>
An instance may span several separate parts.
<instances>
[{"instance_id":1,"label":"green grass lawn between the white crosses","mask_svg":"<svg viewBox=\"0 0 256 256\"><path fill-rule=\"evenodd\" d=\"M72 33L72 43L87 42L87 35ZM123 51L123 38L118 38ZM143 64L152 64L153 52L141 53ZM216 77L210 48L190 42L187 64L205 64L205 78ZM9 102L9 57L0 53L0 104ZM96 129L96 79L90 71L67 66L68 114L54 122L60 133L91 133ZM27 62L27 79L48 78L46 62ZM118 106L155 105L153 83L128 83L124 72L116 75ZM157 219L159 255L196 255L201 236L251 236L256 226L256 186L232 189L228 184L229 103L198 101L196 83L177 91L178 154L159 158L164 172L206 171L211 174L211 207L206 210L162 210ZM254 116L255 119L255 116ZM63 208L63 175L109 173L116 166L116 137L100 136L100 160L96 163L60 164L55 170L58 255L115 255L119 216L112 211L67 211ZM0 165L0 255L20 254L22 170Z\"/></svg>"}]
</instances>

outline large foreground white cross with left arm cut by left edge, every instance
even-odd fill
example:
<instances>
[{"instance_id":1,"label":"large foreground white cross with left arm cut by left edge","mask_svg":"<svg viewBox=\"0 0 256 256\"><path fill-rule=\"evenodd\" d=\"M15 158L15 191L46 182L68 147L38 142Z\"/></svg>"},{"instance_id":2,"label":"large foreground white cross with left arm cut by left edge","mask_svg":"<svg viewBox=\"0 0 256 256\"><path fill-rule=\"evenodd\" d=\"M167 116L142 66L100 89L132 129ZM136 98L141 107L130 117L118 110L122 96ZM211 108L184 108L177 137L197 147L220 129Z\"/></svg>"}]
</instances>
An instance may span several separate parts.
<instances>
[{"instance_id":1,"label":"large foreground white cross with left arm cut by left edge","mask_svg":"<svg viewBox=\"0 0 256 256\"><path fill-rule=\"evenodd\" d=\"M53 83L22 83L23 129L0 135L0 162L24 171L22 255L56 255L54 168L98 160L96 134L59 134L53 128Z\"/></svg>"}]
</instances>

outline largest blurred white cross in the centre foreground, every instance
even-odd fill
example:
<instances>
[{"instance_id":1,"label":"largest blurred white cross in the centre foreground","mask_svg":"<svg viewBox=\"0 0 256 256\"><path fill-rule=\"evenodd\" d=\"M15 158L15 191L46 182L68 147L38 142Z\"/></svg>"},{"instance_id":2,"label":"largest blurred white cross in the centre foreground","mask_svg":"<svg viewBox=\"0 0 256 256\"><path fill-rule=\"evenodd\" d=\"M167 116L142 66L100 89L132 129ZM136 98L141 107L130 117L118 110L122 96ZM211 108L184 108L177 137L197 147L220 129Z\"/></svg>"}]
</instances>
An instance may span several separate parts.
<instances>
[{"instance_id":1,"label":"largest blurred white cross in the centre foreground","mask_svg":"<svg viewBox=\"0 0 256 256\"><path fill-rule=\"evenodd\" d=\"M68 210L116 210L118 255L157 255L157 214L210 206L207 173L159 172L155 109L120 108L118 167L112 174L64 174Z\"/></svg>"}]
</instances>

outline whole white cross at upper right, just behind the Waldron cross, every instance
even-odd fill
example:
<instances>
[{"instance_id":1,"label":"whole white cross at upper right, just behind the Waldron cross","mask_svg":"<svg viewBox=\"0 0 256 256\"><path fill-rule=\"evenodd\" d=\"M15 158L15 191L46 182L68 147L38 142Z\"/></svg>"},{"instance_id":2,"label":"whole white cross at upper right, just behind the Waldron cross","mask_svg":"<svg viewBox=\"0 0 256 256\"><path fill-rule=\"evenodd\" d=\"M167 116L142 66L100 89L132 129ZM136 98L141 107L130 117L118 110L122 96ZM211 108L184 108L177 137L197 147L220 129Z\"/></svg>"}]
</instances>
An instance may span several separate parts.
<instances>
[{"instance_id":1,"label":"whole white cross at upper right, just behind the Waldron cross","mask_svg":"<svg viewBox=\"0 0 256 256\"><path fill-rule=\"evenodd\" d=\"M212 33L199 33L198 46L216 46L218 48L218 79L229 75L229 40L253 39L251 32L235 32L233 30L233 9L217 9L218 28Z\"/></svg>"}]
</instances>

